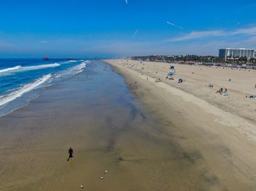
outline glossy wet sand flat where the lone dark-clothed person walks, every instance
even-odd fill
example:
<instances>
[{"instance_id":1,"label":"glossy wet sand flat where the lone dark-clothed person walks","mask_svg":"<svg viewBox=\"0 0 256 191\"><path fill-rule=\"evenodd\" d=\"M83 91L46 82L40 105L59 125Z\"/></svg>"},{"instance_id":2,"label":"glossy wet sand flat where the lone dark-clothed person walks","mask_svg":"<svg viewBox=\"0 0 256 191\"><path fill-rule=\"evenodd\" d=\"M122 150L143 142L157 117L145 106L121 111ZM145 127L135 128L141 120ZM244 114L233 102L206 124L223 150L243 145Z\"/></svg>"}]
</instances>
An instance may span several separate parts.
<instances>
[{"instance_id":1,"label":"glossy wet sand flat where the lone dark-clothed person walks","mask_svg":"<svg viewBox=\"0 0 256 191\"><path fill-rule=\"evenodd\" d=\"M109 65L89 64L0 118L0 190L208 188L165 126Z\"/></svg>"}]
</instances>

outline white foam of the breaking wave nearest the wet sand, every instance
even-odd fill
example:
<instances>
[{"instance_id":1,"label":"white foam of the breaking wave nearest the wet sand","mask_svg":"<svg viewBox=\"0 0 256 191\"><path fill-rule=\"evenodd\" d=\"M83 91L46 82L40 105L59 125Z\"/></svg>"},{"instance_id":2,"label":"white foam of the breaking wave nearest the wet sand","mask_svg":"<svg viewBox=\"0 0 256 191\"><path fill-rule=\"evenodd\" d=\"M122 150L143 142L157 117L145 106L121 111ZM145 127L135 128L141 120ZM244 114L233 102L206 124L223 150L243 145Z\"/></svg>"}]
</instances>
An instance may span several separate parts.
<instances>
[{"instance_id":1,"label":"white foam of the breaking wave nearest the wet sand","mask_svg":"<svg viewBox=\"0 0 256 191\"><path fill-rule=\"evenodd\" d=\"M28 83L28 84L16 89L16 91L13 91L10 94L1 96L0 97L0 106L11 102L12 100L14 100L18 97L21 97L22 94L29 92L32 89L35 89L36 87L38 87L39 85L41 85L42 83L47 81L51 76L52 76L51 74L44 75L44 76L40 77L39 79L37 79L36 81L34 81L32 83Z\"/></svg>"}]
</instances>

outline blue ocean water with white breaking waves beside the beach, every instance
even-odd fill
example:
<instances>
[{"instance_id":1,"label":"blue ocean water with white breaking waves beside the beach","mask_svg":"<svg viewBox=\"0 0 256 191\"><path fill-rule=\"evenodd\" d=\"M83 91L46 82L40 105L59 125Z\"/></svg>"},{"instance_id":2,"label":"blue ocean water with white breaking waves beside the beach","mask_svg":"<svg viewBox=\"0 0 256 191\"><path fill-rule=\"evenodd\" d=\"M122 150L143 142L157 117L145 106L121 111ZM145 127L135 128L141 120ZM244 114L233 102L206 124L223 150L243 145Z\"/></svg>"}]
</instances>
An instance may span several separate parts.
<instances>
[{"instance_id":1,"label":"blue ocean water with white breaking waves beside the beach","mask_svg":"<svg viewBox=\"0 0 256 191\"><path fill-rule=\"evenodd\" d=\"M0 116L37 98L45 86L83 71L88 63L84 60L0 59Z\"/></svg>"}]
</instances>

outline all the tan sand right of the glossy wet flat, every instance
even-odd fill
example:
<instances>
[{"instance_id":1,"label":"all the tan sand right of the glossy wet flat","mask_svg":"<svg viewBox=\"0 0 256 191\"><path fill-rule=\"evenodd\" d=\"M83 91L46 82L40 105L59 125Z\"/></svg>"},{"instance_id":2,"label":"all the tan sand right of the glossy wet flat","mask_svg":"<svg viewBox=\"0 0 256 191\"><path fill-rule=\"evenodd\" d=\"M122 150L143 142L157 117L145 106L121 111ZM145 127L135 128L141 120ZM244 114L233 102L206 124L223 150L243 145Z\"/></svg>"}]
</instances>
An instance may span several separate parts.
<instances>
[{"instance_id":1,"label":"all the tan sand right of the glossy wet flat","mask_svg":"<svg viewBox=\"0 0 256 191\"><path fill-rule=\"evenodd\" d=\"M251 81L246 86L237 88L237 92L229 88L230 94L234 97L232 98L230 95L231 98L228 98L230 101L227 102L226 100L220 101L226 97L220 97L214 91L207 93L206 87L195 88L195 86L207 84L208 79L201 83L197 79L195 86L193 86L193 82L196 80L196 76L194 75L195 80L192 81L189 78L190 74L183 77L187 79L184 84L178 84L177 81L163 81L169 64L144 62L145 65L142 67L145 69L142 70L139 61L127 62L127 60L117 59L111 60L109 63L126 78L127 83L132 83L131 88L134 95L146 105L147 109L162 118L162 121L172 123L177 127L173 129L168 128L167 125L165 129L169 131L170 135L175 136L175 141L187 151L187 156L195 163L195 172L199 169L202 170L201 176L209 181L207 190L253 190L256 166L256 152L254 150L256 146L255 114L254 111L250 113L245 109L244 111L247 112L243 112L243 109L239 108L239 104L225 106L237 102L237 98L241 94L249 93L248 86L253 83L252 79L249 79ZM183 67L181 71L179 70L180 67ZM190 66L180 67L176 67L180 76L180 73L183 75L192 73L188 69ZM161 72L161 68L165 71ZM198 70L198 72L201 71L199 67ZM206 70L206 68L202 70ZM209 68L208 73L201 73L200 75L206 77L209 73L212 73L211 68ZM179 78L179 75L176 78ZM230 74L226 76L230 76ZM236 81L237 79L234 77L232 79ZM155 82L158 78L161 78L163 82ZM135 81L137 81L138 89L133 88ZM172 85L170 86L169 83ZM218 88L218 82L212 83ZM179 88L176 88L177 86ZM251 86L253 85L251 84ZM186 88L186 91L183 91L183 88ZM192 89L195 90L194 95L189 92ZM206 95L207 99L201 99L198 91ZM252 88L252 92L254 91ZM212 94L212 97L209 94ZM212 98L215 100L209 103L208 101ZM252 103L253 99L243 99L241 102L240 104L250 102L253 107L255 105ZM218 105L220 106L218 107ZM223 110L223 105L226 111ZM239 115L237 111L242 112ZM207 172L207 175L204 175L203 172Z\"/></svg>"}]
</instances>

